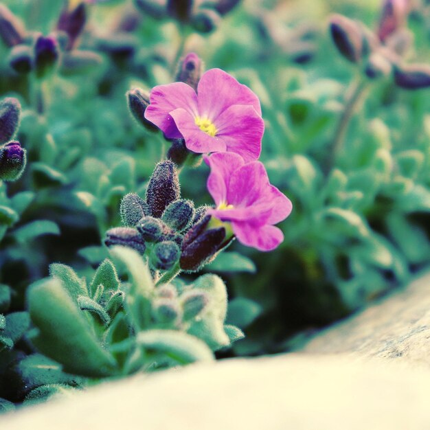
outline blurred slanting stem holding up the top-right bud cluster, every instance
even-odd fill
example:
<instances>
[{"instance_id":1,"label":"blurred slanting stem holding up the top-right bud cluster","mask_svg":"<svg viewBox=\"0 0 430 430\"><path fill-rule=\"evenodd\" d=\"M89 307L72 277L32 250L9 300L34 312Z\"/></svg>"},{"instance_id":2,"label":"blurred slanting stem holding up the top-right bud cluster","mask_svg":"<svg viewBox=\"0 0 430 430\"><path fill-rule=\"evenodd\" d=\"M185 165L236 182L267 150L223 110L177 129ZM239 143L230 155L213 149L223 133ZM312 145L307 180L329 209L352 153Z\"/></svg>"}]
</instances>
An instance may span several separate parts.
<instances>
[{"instance_id":1,"label":"blurred slanting stem holding up the top-right bud cluster","mask_svg":"<svg viewBox=\"0 0 430 430\"><path fill-rule=\"evenodd\" d=\"M339 118L339 122L337 123L337 127L335 129L335 135L332 140L330 152L331 157L328 159L328 168L327 171L330 171L332 168L332 163L337 159L339 152L343 148L343 142L345 142L346 132L348 131L348 126L350 125L350 121L354 116L354 111L357 109L357 106L361 99L365 94L365 89L367 88L368 82L361 78L356 78L352 81L349 91L348 99L345 103L345 109L343 109L343 113Z\"/></svg>"}]
</instances>

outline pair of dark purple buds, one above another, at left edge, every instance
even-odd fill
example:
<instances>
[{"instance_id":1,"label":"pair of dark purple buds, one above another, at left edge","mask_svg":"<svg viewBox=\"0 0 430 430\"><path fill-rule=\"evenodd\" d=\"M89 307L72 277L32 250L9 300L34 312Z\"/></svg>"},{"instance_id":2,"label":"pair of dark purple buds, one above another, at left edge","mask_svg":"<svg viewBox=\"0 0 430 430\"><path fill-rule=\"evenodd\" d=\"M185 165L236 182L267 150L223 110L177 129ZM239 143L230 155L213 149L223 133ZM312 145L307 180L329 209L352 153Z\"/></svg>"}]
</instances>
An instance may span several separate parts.
<instances>
[{"instance_id":1,"label":"pair of dark purple buds, one above another, at left edge","mask_svg":"<svg viewBox=\"0 0 430 430\"><path fill-rule=\"evenodd\" d=\"M0 181L16 181L25 168L25 149L11 140L18 130L20 115L21 104L16 98L0 102Z\"/></svg>"}]
</instances>

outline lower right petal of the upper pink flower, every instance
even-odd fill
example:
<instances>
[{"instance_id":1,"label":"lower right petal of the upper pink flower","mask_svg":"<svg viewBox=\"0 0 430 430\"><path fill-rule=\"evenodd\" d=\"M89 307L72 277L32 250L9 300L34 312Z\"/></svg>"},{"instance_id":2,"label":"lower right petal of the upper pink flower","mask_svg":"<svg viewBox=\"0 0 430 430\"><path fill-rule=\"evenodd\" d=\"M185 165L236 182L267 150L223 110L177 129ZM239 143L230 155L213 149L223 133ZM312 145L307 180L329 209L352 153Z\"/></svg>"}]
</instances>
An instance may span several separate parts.
<instances>
[{"instance_id":1,"label":"lower right petal of the upper pink flower","mask_svg":"<svg viewBox=\"0 0 430 430\"><path fill-rule=\"evenodd\" d=\"M264 121L252 106L231 106L214 124L216 137L225 142L227 151L236 152L247 162L260 157Z\"/></svg>"}]
</instances>

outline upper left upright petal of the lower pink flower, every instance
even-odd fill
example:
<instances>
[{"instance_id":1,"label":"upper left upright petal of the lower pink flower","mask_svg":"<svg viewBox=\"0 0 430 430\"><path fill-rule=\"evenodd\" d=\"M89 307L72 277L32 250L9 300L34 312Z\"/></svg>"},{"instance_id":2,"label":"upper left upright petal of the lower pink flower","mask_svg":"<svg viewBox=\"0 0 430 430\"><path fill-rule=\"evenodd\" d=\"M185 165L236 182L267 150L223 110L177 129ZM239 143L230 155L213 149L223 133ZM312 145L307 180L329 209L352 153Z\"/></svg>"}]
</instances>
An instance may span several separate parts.
<instances>
[{"instance_id":1,"label":"upper left upright petal of the lower pink flower","mask_svg":"<svg viewBox=\"0 0 430 430\"><path fill-rule=\"evenodd\" d=\"M218 206L227 201L227 189L231 174L243 166L245 161L243 161L240 155L234 154L233 152L218 152L212 154L210 157L203 158L211 170L207 178L207 190Z\"/></svg>"}]
</instances>

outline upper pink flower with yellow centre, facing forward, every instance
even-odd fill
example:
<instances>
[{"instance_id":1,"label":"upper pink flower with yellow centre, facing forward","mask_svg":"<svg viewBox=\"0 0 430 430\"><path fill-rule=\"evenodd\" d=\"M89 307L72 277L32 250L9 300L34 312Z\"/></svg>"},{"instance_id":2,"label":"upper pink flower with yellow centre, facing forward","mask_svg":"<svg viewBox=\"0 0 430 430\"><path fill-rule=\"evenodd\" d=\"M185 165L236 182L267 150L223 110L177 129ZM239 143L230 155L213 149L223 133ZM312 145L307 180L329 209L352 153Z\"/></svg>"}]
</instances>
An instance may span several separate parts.
<instances>
[{"instance_id":1,"label":"upper pink flower with yellow centre, facing forward","mask_svg":"<svg viewBox=\"0 0 430 430\"><path fill-rule=\"evenodd\" d=\"M184 82L154 87L145 117L168 139L183 137L194 152L236 152L245 161L260 156L260 101L223 70L203 73L197 93Z\"/></svg>"}]
</instances>

